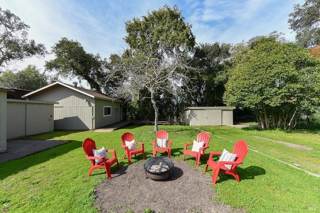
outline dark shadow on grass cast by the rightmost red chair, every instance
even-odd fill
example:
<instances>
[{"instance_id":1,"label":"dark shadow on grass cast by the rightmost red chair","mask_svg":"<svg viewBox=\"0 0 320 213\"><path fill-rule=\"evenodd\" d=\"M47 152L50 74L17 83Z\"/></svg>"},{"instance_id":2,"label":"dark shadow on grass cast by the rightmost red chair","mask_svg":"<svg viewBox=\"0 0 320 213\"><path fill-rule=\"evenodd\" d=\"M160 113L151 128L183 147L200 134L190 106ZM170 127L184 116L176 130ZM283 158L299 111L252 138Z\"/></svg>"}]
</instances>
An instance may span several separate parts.
<instances>
[{"instance_id":1,"label":"dark shadow on grass cast by the rightmost red chair","mask_svg":"<svg viewBox=\"0 0 320 213\"><path fill-rule=\"evenodd\" d=\"M249 166L244 169L237 167L236 172L241 180L253 180L255 176L265 175L265 170L261 167ZM216 183L220 183L223 181L227 181L229 179L234 179L231 175L226 175L224 173L219 172L219 179Z\"/></svg>"}]
</instances>

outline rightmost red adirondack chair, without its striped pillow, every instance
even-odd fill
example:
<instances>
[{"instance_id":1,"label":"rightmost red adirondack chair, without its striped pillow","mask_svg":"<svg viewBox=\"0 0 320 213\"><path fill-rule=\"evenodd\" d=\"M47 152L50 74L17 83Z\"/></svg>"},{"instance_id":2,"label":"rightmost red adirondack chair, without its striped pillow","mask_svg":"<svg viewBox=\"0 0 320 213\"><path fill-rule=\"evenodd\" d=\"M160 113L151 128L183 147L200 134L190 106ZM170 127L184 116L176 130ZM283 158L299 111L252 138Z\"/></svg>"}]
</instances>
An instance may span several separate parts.
<instances>
[{"instance_id":1,"label":"rightmost red adirondack chair, without its striped pillow","mask_svg":"<svg viewBox=\"0 0 320 213\"><path fill-rule=\"evenodd\" d=\"M210 152L209 160L206 163L205 172L207 171L208 166L211 168L212 174L212 184L216 183L216 178L218 177L219 172L224 174L232 175L237 182L240 182L239 176L236 173L235 169L238 165L242 164L244 157L248 152L248 146L245 141L238 141L234 144L232 154L236 154L234 161L219 161L215 162L212 160L213 155L221 155L221 152ZM228 169L224 165L232 165L231 169Z\"/></svg>"}]
</instances>

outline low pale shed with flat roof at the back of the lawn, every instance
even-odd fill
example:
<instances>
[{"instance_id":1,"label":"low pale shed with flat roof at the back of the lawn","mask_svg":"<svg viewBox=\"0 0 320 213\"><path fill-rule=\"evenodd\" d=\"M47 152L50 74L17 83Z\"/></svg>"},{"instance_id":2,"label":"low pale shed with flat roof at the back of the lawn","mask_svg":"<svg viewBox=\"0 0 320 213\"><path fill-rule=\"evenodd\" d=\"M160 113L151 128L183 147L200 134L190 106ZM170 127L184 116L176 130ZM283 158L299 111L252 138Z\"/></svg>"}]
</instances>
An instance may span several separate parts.
<instances>
[{"instance_id":1,"label":"low pale shed with flat roof at the back of the lawn","mask_svg":"<svg viewBox=\"0 0 320 213\"><path fill-rule=\"evenodd\" d=\"M226 126L233 124L233 108L187 107L183 110L183 122L190 126Z\"/></svg>"}]
</instances>

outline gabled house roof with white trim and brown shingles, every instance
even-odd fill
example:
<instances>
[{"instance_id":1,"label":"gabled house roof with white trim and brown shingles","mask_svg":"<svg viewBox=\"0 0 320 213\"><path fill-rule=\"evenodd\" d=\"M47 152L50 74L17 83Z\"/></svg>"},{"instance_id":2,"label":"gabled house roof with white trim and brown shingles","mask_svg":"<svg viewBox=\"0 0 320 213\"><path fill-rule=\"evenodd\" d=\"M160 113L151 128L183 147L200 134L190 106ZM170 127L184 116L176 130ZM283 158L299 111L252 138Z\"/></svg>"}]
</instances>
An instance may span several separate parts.
<instances>
[{"instance_id":1,"label":"gabled house roof with white trim and brown shingles","mask_svg":"<svg viewBox=\"0 0 320 213\"><path fill-rule=\"evenodd\" d=\"M74 91L77 91L79 93L87 95L87 96L89 96L91 98L97 98L97 99L103 99L103 100L109 100L109 101L115 101L115 102L121 102L122 103L122 101L110 98L110 97L106 96L103 93L95 92L95 91L92 91L92 90L89 90L89 89L84 89L82 87L72 86L70 84L65 84L65 83L62 83L62 82L54 82L54 83L49 84L49 85L47 85L45 87L42 87L40 89L34 90L34 91L30 92L30 93L27 93L27 94L21 96L21 98L27 98L28 96L31 96L33 94L42 92L42 91L44 91L44 90L46 90L48 88L52 88L52 87L55 87L57 85L61 85L61 86L64 86L66 88L72 89Z\"/></svg>"}]
</instances>

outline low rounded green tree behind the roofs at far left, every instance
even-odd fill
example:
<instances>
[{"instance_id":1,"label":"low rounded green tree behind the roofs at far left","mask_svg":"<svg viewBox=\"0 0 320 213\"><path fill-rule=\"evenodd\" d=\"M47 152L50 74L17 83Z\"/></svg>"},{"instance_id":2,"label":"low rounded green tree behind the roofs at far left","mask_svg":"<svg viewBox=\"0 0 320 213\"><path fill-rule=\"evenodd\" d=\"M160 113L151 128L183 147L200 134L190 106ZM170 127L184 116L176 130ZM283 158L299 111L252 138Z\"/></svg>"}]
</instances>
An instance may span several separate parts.
<instances>
[{"instance_id":1,"label":"low rounded green tree behind the roofs at far left","mask_svg":"<svg viewBox=\"0 0 320 213\"><path fill-rule=\"evenodd\" d=\"M17 89L36 90L48 85L48 76L40 71L34 65L28 65L23 70L13 72L2 72L0 82L8 87Z\"/></svg>"}]
</instances>

